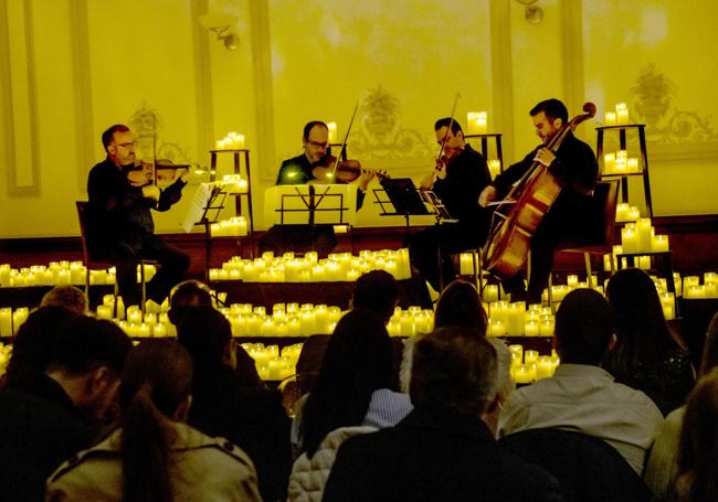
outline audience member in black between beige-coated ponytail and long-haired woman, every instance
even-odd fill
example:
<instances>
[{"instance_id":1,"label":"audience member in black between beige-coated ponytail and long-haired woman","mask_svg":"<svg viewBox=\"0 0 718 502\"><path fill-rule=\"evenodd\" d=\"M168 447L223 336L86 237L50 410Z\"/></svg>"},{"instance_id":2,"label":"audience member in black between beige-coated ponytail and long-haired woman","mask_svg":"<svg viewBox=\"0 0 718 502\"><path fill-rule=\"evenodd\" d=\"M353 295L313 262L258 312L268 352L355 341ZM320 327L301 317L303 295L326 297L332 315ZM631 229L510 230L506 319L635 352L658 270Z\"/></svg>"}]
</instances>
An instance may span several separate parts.
<instances>
[{"instance_id":1,"label":"audience member in black between beige-coated ponytail and long-haired woman","mask_svg":"<svg viewBox=\"0 0 718 502\"><path fill-rule=\"evenodd\" d=\"M240 446L254 461L262 498L267 502L284 500L292 447L291 420L282 406L282 395L247 385L239 376L251 373L236 371L240 364L251 364L256 374L254 361L236 360L230 322L213 308L188 310L179 324L178 340L194 362L189 424Z\"/></svg>"}]
</instances>

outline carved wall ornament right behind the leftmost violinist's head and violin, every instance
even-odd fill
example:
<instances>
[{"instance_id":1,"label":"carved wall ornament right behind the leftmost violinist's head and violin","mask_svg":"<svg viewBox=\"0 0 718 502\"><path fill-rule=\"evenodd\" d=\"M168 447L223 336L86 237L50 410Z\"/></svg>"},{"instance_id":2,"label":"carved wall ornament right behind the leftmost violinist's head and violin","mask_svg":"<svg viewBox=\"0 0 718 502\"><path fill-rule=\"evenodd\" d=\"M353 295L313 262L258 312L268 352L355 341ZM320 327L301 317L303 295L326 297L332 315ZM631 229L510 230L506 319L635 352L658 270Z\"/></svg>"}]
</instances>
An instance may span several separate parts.
<instances>
[{"instance_id":1,"label":"carved wall ornament right behind the leftmost violinist's head and violin","mask_svg":"<svg viewBox=\"0 0 718 502\"><path fill-rule=\"evenodd\" d=\"M163 121L159 113L144 104L129 119L129 128L135 132L140 160L151 160L156 150L157 159L168 159L176 164L191 163L187 148L177 142L162 139Z\"/></svg>"}]
</instances>

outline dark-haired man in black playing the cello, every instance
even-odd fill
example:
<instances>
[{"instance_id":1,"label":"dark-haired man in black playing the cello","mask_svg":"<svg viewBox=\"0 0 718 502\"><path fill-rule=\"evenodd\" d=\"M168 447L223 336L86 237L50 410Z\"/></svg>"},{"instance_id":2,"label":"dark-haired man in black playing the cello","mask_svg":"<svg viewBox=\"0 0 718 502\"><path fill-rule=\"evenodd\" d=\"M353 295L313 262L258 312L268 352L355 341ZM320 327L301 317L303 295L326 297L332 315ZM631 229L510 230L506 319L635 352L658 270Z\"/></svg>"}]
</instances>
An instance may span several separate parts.
<instances>
[{"instance_id":1,"label":"dark-haired man in black playing the cello","mask_svg":"<svg viewBox=\"0 0 718 502\"><path fill-rule=\"evenodd\" d=\"M478 197L482 206L503 199L534 162L546 165L562 186L530 241L528 290L520 271L503 282L506 292L511 295L511 300L526 300L528 305L541 301L541 293L548 286L553 268L555 250L569 243L580 244L590 239L596 234L599 221L598 207L592 197L599 164L591 147L568 131L556 153L546 148L562 126L568 124L566 105L559 99L546 99L531 108L529 115L541 145L496 177Z\"/></svg>"}]
</instances>

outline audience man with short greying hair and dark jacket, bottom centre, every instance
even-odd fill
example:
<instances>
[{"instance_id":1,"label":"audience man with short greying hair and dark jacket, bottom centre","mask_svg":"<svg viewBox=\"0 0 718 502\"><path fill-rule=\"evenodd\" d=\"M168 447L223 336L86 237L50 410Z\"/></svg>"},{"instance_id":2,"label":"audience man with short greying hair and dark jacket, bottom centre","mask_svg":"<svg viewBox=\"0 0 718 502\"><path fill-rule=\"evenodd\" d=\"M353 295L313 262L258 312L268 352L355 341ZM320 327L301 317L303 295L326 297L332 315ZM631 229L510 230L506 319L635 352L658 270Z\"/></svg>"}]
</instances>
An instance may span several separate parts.
<instances>
[{"instance_id":1,"label":"audience man with short greying hair and dark jacket, bottom centre","mask_svg":"<svg viewBox=\"0 0 718 502\"><path fill-rule=\"evenodd\" d=\"M473 329L419 339L415 408L393 428L345 441L323 500L562 500L556 480L503 451L482 419L498 406L496 372L496 351Z\"/></svg>"}]
</instances>

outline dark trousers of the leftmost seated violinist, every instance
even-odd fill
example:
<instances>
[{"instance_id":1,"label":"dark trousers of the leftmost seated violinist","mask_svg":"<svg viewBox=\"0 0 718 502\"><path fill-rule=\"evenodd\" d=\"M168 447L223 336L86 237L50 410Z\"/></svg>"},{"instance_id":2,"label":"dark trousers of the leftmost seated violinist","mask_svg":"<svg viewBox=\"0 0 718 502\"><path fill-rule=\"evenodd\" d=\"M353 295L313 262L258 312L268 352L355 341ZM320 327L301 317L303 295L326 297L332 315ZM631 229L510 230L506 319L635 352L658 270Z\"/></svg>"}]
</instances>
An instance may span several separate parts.
<instances>
[{"instance_id":1,"label":"dark trousers of the leftmost seated violinist","mask_svg":"<svg viewBox=\"0 0 718 502\"><path fill-rule=\"evenodd\" d=\"M190 266L190 257L180 248L165 243L156 235L126 238L115 243L110 258L117 268L117 287L125 306L141 302L140 286L137 282L137 265L140 259L159 264L152 280L147 284L147 298L161 303L170 289L182 280Z\"/></svg>"}]
</instances>

